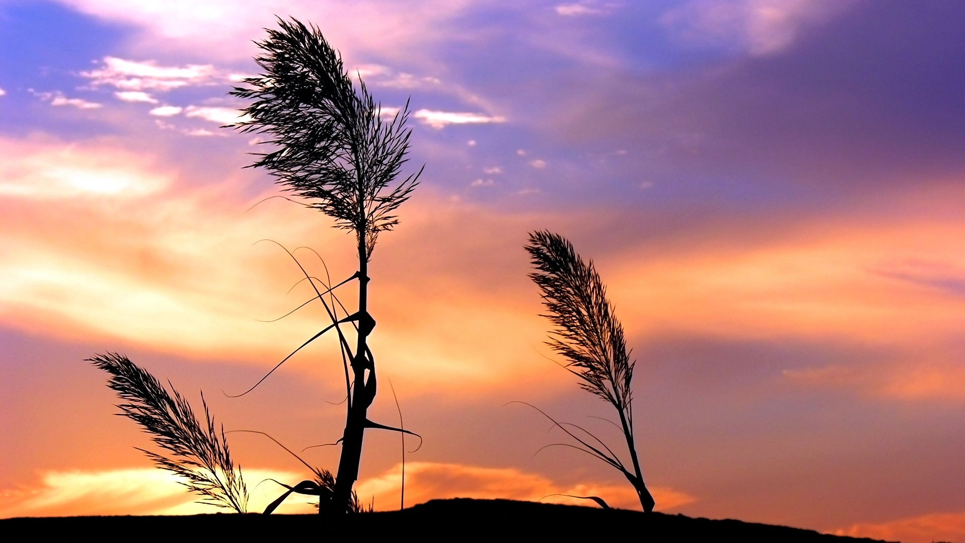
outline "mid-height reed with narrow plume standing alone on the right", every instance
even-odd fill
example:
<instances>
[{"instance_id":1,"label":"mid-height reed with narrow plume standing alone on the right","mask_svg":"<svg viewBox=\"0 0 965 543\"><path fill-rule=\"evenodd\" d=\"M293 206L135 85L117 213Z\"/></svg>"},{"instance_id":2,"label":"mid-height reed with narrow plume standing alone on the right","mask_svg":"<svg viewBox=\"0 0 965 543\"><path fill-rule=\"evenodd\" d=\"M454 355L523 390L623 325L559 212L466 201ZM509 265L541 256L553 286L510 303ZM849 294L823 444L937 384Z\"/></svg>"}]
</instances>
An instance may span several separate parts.
<instances>
[{"instance_id":1,"label":"mid-height reed with narrow plume standing alone on the right","mask_svg":"<svg viewBox=\"0 0 965 543\"><path fill-rule=\"evenodd\" d=\"M565 368L581 380L580 386L584 390L599 396L617 410L620 416L618 427L626 440L632 467L627 468L606 443L582 427L560 423L543 414L580 443L559 444L574 446L623 473L637 491L644 511L649 513L654 501L644 483L633 438L630 382L633 380L634 360L626 350L623 327L614 314L613 304L606 298L606 286L593 267L593 261L584 262L573 244L559 234L534 232L530 234L526 250L537 269L537 272L530 273L530 278L538 285L547 310L542 316L556 327L546 343L568 360Z\"/></svg>"}]
</instances>

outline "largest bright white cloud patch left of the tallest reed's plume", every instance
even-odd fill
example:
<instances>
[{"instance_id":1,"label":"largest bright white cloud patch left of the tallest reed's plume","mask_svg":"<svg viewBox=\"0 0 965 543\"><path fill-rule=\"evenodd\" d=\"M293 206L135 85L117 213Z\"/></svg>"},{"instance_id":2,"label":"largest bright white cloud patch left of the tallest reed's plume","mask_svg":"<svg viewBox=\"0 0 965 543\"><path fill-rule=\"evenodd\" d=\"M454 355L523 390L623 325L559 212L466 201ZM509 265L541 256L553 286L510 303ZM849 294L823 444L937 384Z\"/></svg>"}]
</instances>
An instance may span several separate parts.
<instances>
[{"instance_id":1,"label":"largest bright white cloud patch left of the tallest reed's plume","mask_svg":"<svg viewBox=\"0 0 965 543\"><path fill-rule=\"evenodd\" d=\"M210 64L189 64L183 67L157 66L154 61L136 62L107 56L103 68L81 71L95 86L112 85L125 91L170 91L189 85L207 85L227 76L219 76Z\"/></svg>"}]
</instances>

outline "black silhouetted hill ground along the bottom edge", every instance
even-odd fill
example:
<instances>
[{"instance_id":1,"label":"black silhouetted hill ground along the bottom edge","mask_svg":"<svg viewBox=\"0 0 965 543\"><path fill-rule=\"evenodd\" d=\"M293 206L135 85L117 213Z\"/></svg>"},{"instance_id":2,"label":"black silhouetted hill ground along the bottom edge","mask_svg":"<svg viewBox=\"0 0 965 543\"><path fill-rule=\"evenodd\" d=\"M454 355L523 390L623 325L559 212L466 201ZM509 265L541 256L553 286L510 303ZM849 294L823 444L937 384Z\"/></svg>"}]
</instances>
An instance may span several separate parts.
<instances>
[{"instance_id":1,"label":"black silhouetted hill ground along the bottom edge","mask_svg":"<svg viewBox=\"0 0 965 543\"><path fill-rule=\"evenodd\" d=\"M645 514L513 500L431 500L405 509L340 515L338 523L318 515L144 517L47 517L0 520L0 533L48 539L93 535L100 540L207 539L251 541L332 540L345 530L357 541L399 538L416 541L735 541L847 543L876 541L812 529L714 521L683 515ZM339 526L341 525L341 526Z\"/></svg>"}]
</instances>

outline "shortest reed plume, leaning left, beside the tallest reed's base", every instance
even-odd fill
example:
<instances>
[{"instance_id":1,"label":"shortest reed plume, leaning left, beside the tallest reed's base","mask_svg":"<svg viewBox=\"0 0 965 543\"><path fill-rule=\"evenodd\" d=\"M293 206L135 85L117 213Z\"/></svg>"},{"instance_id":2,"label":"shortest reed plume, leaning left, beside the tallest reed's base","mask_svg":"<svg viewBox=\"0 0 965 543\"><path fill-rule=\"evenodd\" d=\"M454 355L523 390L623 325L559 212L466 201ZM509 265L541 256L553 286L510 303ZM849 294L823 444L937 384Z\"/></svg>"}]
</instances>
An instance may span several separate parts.
<instances>
[{"instance_id":1,"label":"shortest reed plume, leaning left, beside the tallest reed's base","mask_svg":"<svg viewBox=\"0 0 965 543\"><path fill-rule=\"evenodd\" d=\"M174 397L144 368L117 353L87 358L98 368L111 374L107 386L117 391L128 403L117 406L121 415L141 425L152 434L152 441L171 453L157 454L138 448L163 470L181 477L179 481L190 492L200 494L202 502L244 513L248 506L248 489L235 468L224 426L215 429L214 419L205 408L205 424L198 421L191 405L169 382Z\"/></svg>"}]
</instances>

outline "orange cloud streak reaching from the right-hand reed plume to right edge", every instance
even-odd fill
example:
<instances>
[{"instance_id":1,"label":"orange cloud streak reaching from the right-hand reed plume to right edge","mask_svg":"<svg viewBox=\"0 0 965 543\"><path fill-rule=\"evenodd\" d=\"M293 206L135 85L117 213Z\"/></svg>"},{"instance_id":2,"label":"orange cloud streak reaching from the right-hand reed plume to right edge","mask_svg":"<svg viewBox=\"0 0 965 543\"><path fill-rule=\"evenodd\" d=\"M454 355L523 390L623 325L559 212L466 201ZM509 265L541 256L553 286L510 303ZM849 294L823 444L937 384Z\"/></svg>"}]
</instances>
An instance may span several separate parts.
<instances>
[{"instance_id":1,"label":"orange cloud streak reaching from the right-hand reed plume to right edge","mask_svg":"<svg viewBox=\"0 0 965 543\"><path fill-rule=\"evenodd\" d=\"M965 259L956 256L965 224L822 226L763 246L615 255L611 292L621 317L645 332L896 344L942 338L965 324L965 297L954 283L965 279ZM944 268L945 284L916 262Z\"/></svg>"}]
</instances>

